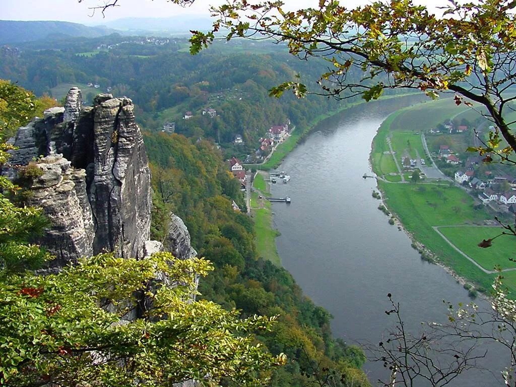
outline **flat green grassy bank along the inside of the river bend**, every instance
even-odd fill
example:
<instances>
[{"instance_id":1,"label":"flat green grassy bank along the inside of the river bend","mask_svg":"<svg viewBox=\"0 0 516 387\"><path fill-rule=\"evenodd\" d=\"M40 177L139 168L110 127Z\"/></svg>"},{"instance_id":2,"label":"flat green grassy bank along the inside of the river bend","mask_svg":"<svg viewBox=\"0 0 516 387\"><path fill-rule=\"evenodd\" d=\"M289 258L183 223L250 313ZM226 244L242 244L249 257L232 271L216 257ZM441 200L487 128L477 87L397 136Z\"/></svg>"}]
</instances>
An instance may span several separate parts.
<instances>
[{"instance_id":1,"label":"flat green grassy bank along the inside of the river bend","mask_svg":"<svg viewBox=\"0 0 516 387\"><path fill-rule=\"evenodd\" d=\"M427 108L417 108L421 114L426 114L426 121L418 120L417 134L434 127L436 122L449 118L452 112L456 115L453 108L436 110L431 103ZM391 177L394 157L401 157L410 151L405 149L406 145L400 146L399 143L394 149L394 154L386 152L386 148L388 139L395 138L396 135L402 136L399 128L393 127L395 120L406 133L410 132L411 122L408 118L417 117L414 111L411 111L413 109L396 111L379 127L373 139L370 156L370 164L377 176L387 174L386 177ZM399 124L403 122L406 124ZM417 148L415 145L420 138L413 136L413 148ZM491 288L497 275L493 272L494 265L502 265L503 269L511 270L504 272L506 285L513 290L516 289L516 271L512 271L513 263L505 259L511 256L513 248L506 244L493 244L489 251L477 247L482 235L486 235L487 239L490 237L488 235L496 233L496 230L490 227L493 216L485 208L475 206L474 199L453 184L402 184L393 180L377 179L378 188L382 192L384 205L402 224L416 250L427 259L447 267L457 278L472 282L480 292L486 292L486 289ZM475 227L475 232L463 232L464 226ZM446 237L443 237L442 230L445 230ZM470 262L469 257L474 262Z\"/></svg>"}]
</instances>

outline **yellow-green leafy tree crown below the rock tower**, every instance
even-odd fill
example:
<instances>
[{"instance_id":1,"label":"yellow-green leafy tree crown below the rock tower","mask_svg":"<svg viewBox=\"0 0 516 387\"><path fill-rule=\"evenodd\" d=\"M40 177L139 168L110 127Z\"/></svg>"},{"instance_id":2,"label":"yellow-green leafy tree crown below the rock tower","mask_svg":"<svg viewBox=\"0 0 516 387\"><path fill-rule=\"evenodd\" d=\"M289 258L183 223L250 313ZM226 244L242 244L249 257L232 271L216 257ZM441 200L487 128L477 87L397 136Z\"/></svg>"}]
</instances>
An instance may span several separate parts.
<instances>
[{"instance_id":1,"label":"yellow-green leafy tree crown below the rock tower","mask_svg":"<svg viewBox=\"0 0 516 387\"><path fill-rule=\"evenodd\" d=\"M209 376L259 384L262 370L283 362L251 334L269 330L273 319L242 320L213 302L188 302L194 273L210 269L169 253L140 261L101 254L56 274L4 278L0 383L126 386L136 378L158 386ZM177 285L150 285L156 278ZM126 319L137 310L141 318Z\"/></svg>"}]
</instances>

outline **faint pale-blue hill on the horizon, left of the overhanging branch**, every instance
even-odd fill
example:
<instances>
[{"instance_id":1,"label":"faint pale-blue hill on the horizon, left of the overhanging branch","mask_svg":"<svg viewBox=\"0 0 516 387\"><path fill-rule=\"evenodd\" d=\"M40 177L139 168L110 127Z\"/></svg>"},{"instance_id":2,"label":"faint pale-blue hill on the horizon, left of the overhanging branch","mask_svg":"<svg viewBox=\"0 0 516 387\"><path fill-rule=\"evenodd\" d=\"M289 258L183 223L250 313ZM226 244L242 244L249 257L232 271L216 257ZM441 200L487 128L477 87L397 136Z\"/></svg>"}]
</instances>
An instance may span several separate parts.
<instances>
[{"instance_id":1,"label":"faint pale-blue hill on the horizon, left of the overhanging branch","mask_svg":"<svg viewBox=\"0 0 516 387\"><path fill-rule=\"evenodd\" d=\"M212 24L212 20L207 17L181 15L171 18L122 18L105 22L103 26L123 31L187 33L191 29L209 29Z\"/></svg>"}]
</instances>

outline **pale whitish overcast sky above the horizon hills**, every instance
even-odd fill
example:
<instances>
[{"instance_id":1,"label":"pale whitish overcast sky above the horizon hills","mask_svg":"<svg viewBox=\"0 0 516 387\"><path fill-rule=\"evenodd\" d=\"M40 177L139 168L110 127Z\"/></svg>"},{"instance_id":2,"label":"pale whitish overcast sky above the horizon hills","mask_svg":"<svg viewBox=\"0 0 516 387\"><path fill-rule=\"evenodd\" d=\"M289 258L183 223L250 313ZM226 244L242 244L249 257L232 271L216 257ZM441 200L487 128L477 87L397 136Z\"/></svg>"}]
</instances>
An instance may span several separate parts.
<instances>
[{"instance_id":1,"label":"pale whitish overcast sky above the horizon hills","mask_svg":"<svg viewBox=\"0 0 516 387\"><path fill-rule=\"evenodd\" d=\"M1 20L61 20L90 25L102 24L103 21L126 17L166 18L181 14L209 15L211 4L222 0L196 0L187 8L182 8L167 0L118 0L119 7L109 9L102 18L100 12L90 17L88 7L103 5L107 0L0 0ZM439 0L443 2L444 0ZM317 6L318 0L284 0L291 8ZM366 4L368 0L346 0L347 7ZM435 0L418 0L420 4L436 4Z\"/></svg>"}]
</instances>

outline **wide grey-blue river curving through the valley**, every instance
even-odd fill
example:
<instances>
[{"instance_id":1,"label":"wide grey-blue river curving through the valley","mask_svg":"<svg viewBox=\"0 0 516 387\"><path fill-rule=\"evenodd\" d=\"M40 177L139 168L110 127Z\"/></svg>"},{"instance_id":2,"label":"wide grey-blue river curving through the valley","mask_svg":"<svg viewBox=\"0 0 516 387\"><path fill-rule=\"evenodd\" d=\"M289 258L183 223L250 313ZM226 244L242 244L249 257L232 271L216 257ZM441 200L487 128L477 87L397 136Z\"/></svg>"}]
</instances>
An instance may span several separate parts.
<instances>
[{"instance_id":1,"label":"wide grey-blue river curving through the valley","mask_svg":"<svg viewBox=\"0 0 516 387\"><path fill-rule=\"evenodd\" d=\"M469 301L462 285L422 261L409 237L388 223L372 197L375 179L362 178L372 173L368 158L380 123L400 103L365 104L323 122L282 163L291 181L271 187L274 197L292 198L291 205L273 204L283 266L331 312L333 334L350 344L378 343L394 324L384 312L390 309L388 293L414 331L422 321L445 320L443 300ZM486 301L476 302L489 308ZM487 360L491 373L470 370L450 385L503 385L500 359L496 353ZM373 384L385 379L381 364L364 368Z\"/></svg>"}]
</instances>

